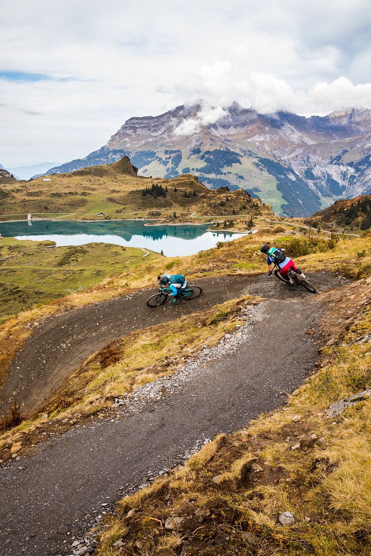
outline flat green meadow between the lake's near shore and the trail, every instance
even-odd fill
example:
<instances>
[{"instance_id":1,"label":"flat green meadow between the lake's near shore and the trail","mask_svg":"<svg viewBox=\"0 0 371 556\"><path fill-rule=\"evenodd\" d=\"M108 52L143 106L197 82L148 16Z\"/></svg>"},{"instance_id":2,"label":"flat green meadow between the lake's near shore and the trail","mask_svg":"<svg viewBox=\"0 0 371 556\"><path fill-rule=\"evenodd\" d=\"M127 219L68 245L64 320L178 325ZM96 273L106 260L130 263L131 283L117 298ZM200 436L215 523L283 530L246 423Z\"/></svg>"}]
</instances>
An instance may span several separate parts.
<instances>
[{"instance_id":1,"label":"flat green meadow between the lake's near shore and the trail","mask_svg":"<svg viewBox=\"0 0 371 556\"><path fill-rule=\"evenodd\" d=\"M0 240L0 317L99 284L159 258L141 249L88 244L50 249L50 241ZM49 247L48 247L49 246Z\"/></svg>"}]
</instances>

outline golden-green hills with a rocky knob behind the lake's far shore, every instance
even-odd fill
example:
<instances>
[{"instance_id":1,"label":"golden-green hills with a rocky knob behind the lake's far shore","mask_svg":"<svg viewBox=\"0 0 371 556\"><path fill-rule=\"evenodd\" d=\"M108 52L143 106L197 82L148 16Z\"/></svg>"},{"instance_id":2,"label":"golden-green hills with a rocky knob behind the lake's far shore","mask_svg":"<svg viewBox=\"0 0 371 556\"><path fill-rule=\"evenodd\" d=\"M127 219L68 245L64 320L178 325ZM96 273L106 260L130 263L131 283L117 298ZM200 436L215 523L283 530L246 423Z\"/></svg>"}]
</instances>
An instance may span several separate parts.
<instances>
[{"instance_id":1,"label":"golden-green hills with a rocky knob behind the lake's far shore","mask_svg":"<svg viewBox=\"0 0 371 556\"><path fill-rule=\"evenodd\" d=\"M48 179L50 181L43 181ZM2 220L39 217L122 219L160 217L177 221L191 215L272 215L269 205L242 190L209 190L195 176L139 177L127 157L106 166L8 183L0 193ZM173 219L174 220L174 219Z\"/></svg>"}]
</instances>

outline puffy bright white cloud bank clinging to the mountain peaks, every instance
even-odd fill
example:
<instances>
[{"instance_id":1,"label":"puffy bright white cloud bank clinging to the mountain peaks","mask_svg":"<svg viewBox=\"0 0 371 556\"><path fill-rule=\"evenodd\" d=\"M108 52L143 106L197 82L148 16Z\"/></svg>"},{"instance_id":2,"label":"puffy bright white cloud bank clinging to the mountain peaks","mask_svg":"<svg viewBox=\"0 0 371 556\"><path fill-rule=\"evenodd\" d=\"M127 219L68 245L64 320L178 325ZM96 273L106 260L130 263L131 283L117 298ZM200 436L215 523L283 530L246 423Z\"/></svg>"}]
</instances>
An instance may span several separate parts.
<instances>
[{"instance_id":1,"label":"puffy bright white cloud bank clinging to the mountain peaks","mask_svg":"<svg viewBox=\"0 0 371 556\"><path fill-rule=\"evenodd\" d=\"M177 98L183 96L189 103L200 98L205 101L196 117L177 127L177 135L191 135L201 126L215 123L234 101L261 114L282 110L303 116L323 116L349 107L371 108L371 83L354 85L346 77L316 83L308 90L295 90L268 73L248 72L240 77L229 61L219 61L200 67L186 86L172 88Z\"/></svg>"}]
</instances>

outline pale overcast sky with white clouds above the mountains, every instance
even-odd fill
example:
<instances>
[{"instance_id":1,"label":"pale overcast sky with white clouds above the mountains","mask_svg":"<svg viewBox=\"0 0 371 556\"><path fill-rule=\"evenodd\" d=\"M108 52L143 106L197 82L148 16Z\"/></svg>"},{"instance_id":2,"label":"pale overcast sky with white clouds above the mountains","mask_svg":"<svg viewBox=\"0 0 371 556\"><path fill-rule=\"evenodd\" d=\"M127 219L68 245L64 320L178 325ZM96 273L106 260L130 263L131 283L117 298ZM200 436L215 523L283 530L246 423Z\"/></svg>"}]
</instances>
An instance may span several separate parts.
<instances>
[{"instance_id":1,"label":"pale overcast sky with white clouds above the mountains","mask_svg":"<svg viewBox=\"0 0 371 556\"><path fill-rule=\"evenodd\" d=\"M5 167L85 156L199 98L371 108L369 0L0 0L0 15Z\"/></svg>"}]
</instances>

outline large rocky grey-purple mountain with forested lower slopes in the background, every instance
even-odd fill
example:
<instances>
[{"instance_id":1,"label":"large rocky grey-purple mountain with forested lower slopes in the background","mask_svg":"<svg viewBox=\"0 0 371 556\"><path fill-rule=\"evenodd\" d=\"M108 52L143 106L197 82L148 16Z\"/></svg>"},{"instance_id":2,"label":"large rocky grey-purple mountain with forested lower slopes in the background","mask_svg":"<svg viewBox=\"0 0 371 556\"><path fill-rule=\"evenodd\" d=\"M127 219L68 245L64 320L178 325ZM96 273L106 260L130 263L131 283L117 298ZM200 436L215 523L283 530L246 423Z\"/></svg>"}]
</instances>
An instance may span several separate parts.
<instances>
[{"instance_id":1,"label":"large rocky grey-purple mountain with forested lower slopes in the background","mask_svg":"<svg viewBox=\"0 0 371 556\"><path fill-rule=\"evenodd\" d=\"M210 188L227 185L258 194L286 216L309 216L339 197L371 191L370 110L306 118L261 115L235 102L221 115L215 111L196 103L131 117L100 149L48 173L127 155L140 175L193 173Z\"/></svg>"}]
</instances>

